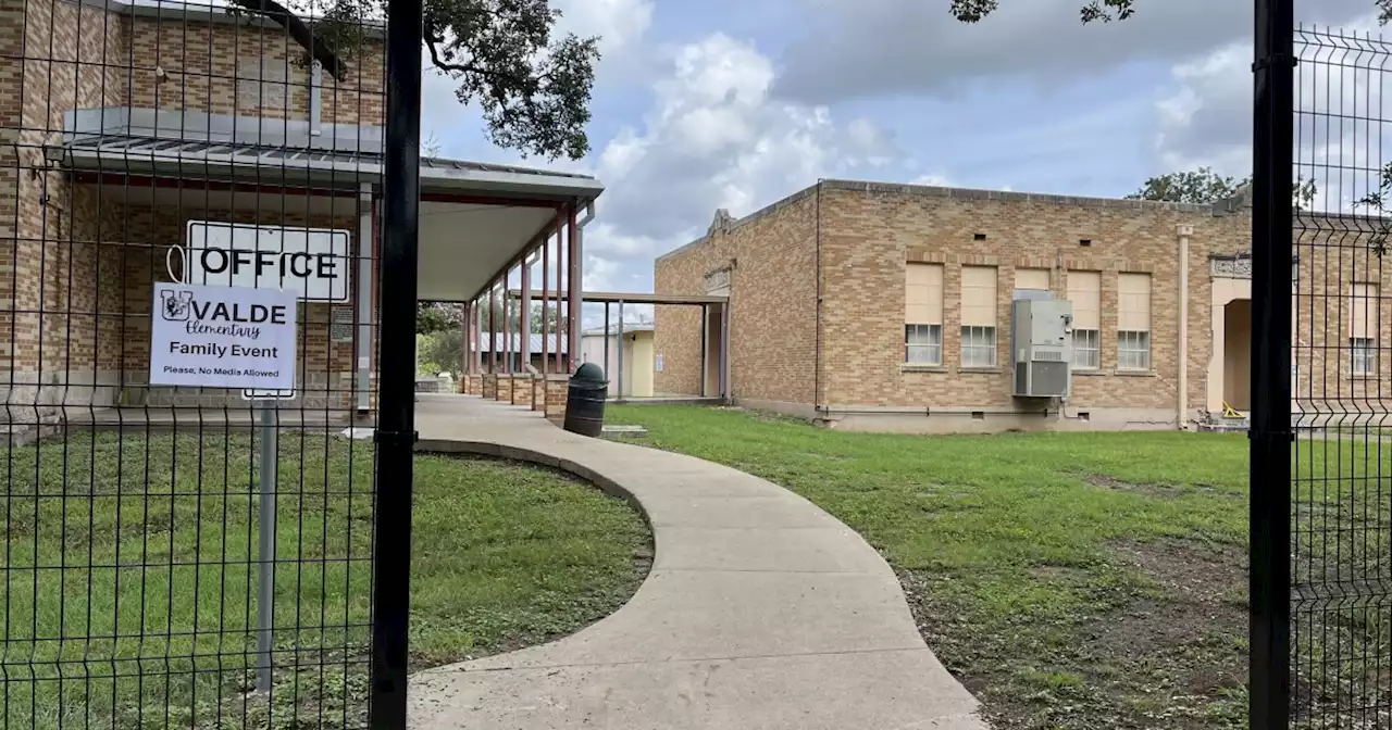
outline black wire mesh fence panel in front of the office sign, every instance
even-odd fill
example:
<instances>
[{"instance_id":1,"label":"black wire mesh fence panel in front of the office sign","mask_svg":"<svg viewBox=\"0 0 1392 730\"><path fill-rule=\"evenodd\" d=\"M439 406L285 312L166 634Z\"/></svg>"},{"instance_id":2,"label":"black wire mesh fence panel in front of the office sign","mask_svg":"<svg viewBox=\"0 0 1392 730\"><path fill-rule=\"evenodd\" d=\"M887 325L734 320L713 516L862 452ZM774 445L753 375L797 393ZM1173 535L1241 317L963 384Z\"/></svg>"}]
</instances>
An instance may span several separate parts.
<instances>
[{"instance_id":1,"label":"black wire mesh fence panel in front of the office sign","mask_svg":"<svg viewBox=\"0 0 1392 730\"><path fill-rule=\"evenodd\" d=\"M0 4L0 726L365 726L384 28Z\"/></svg>"}]
</instances>

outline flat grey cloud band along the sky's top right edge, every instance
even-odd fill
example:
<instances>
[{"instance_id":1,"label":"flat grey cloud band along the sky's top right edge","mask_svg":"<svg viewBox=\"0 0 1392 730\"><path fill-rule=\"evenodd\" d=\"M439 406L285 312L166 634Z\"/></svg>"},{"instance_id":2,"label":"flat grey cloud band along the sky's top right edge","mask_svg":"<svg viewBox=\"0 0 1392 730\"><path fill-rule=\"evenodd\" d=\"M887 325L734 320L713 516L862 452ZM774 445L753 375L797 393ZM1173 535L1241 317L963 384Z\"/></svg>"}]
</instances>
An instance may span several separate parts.
<instances>
[{"instance_id":1,"label":"flat grey cloud band along the sky's top right edge","mask_svg":"<svg viewBox=\"0 0 1392 730\"><path fill-rule=\"evenodd\" d=\"M802 38L782 58L778 95L831 103L885 95L952 95L1006 76L1041 85L1132 63L1173 63L1251 36L1251 3L1147 0L1125 22L1079 22L1083 0L1008 0L983 22L947 0L803 0ZM1373 0L1297 0L1306 22L1342 24Z\"/></svg>"}]
</instances>

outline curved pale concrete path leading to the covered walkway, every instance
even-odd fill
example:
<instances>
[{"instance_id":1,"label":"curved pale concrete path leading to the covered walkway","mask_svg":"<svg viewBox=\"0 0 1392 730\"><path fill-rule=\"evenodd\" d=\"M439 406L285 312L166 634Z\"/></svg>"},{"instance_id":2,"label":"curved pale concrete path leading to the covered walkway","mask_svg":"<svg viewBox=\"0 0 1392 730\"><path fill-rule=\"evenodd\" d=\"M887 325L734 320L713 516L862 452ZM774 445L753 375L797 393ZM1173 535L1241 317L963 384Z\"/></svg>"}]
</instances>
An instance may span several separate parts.
<instances>
[{"instance_id":1,"label":"curved pale concrete path leading to the covered walkway","mask_svg":"<svg viewBox=\"0 0 1392 730\"><path fill-rule=\"evenodd\" d=\"M889 566L812 502L470 396L422 395L416 427L422 451L539 462L629 498L656 558L624 608L571 637L413 674L413 730L986 727Z\"/></svg>"}]
</instances>

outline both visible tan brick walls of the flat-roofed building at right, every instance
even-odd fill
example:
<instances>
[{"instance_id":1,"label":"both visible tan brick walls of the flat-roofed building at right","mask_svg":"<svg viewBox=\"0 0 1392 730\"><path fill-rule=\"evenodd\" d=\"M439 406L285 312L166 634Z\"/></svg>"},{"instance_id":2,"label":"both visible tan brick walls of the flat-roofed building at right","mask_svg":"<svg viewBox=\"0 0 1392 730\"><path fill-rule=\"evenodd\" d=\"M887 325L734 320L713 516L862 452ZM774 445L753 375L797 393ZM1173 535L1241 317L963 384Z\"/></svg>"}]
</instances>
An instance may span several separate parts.
<instances>
[{"instance_id":1,"label":"both visible tan brick walls of the flat-roofed building at right","mask_svg":"<svg viewBox=\"0 0 1392 730\"><path fill-rule=\"evenodd\" d=\"M1193 229L1187 263L1187 414L1193 419L1205 410L1208 366L1214 356L1210 256L1250 250L1249 210L828 182L820 195L816 186L809 188L729 225L728 234L717 225L702 241L660 259L654 271L656 291L704 293L707 273L738 261L731 281L735 323L731 377L736 399L760 400L766 398L761 394L775 392L806 406L816 402L839 409L965 409L1004 414L1043 409L1040 402L1011 395L1009 323L1016 270L1050 270L1051 288L1059 298L1068 295L1069 271L1100 271L1101 367L1075 377L1069 412L1111 409L1126 412L1121 419L1137 419L1133 425L1166 425L1175 423L1180 380L1178 273L1182 224ZM770 336L786 332L784 323L796 327L807 317L816 321L814 275L793 266L782 275L760 270L756 278L750 275L754 267L746 266L746 261L759 260L761 252L777 249L782 242L780 234L803 231L812 234L809 259L814 267L820 256L823 277L821 370L816 377L820 382L816 398L810 392L812 377L789 377L812 356L789 359L773 368L756 366L757 360L749 357L752 352L771 353L773 348L766 343ZM1087 246L1080 243L1084 239ZM903 367L908 261L944 266L940 368ZM997 267L999 364L988 371L960 367L963 266ZM1118 278L1123 273L1151 275L1148 373L1126 373L1116 367ZM768 307L768 299L746 293L803 293L803 289L812 293L784 296L778 309ZM763 306L753 305L752 299ZM1392 310L1388 314L1384 321L1392 324ZM696 316L682 314L677 307L660 307L656 336L658 352L665 355L665 373L657 375L658 389L695 388L700 367ZM813 328L806 339L817 336ZM764 387L775 380L785 384L784 389Z\"/></svg>"}]
</instances>

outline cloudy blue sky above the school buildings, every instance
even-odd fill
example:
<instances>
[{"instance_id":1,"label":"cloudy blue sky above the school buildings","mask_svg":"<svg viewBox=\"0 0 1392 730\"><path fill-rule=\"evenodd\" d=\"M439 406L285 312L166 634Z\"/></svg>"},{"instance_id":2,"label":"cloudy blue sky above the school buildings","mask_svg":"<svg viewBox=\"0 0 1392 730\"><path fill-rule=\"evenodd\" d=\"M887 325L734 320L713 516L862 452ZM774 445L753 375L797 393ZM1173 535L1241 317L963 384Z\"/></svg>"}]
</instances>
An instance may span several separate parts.
<instances>
[{"instance_id":1,"label":"cloudy blue sky above the school buildings","mask_svg":"<svg viewBox=\"0 0 1392 730\"><path fill-rule=\"evenodd\" d=\"M1251 3L1140 0L553 0L601 36L590 154L489 145L427 72L423 133L450 157L578 170L607 186L585 285L651 291L653 259L818 177L1122 196L1151 175L1250 167ZM1297 0L1302 19L1374 28L1373 0Z\"/></svg>"}]
</instances>

